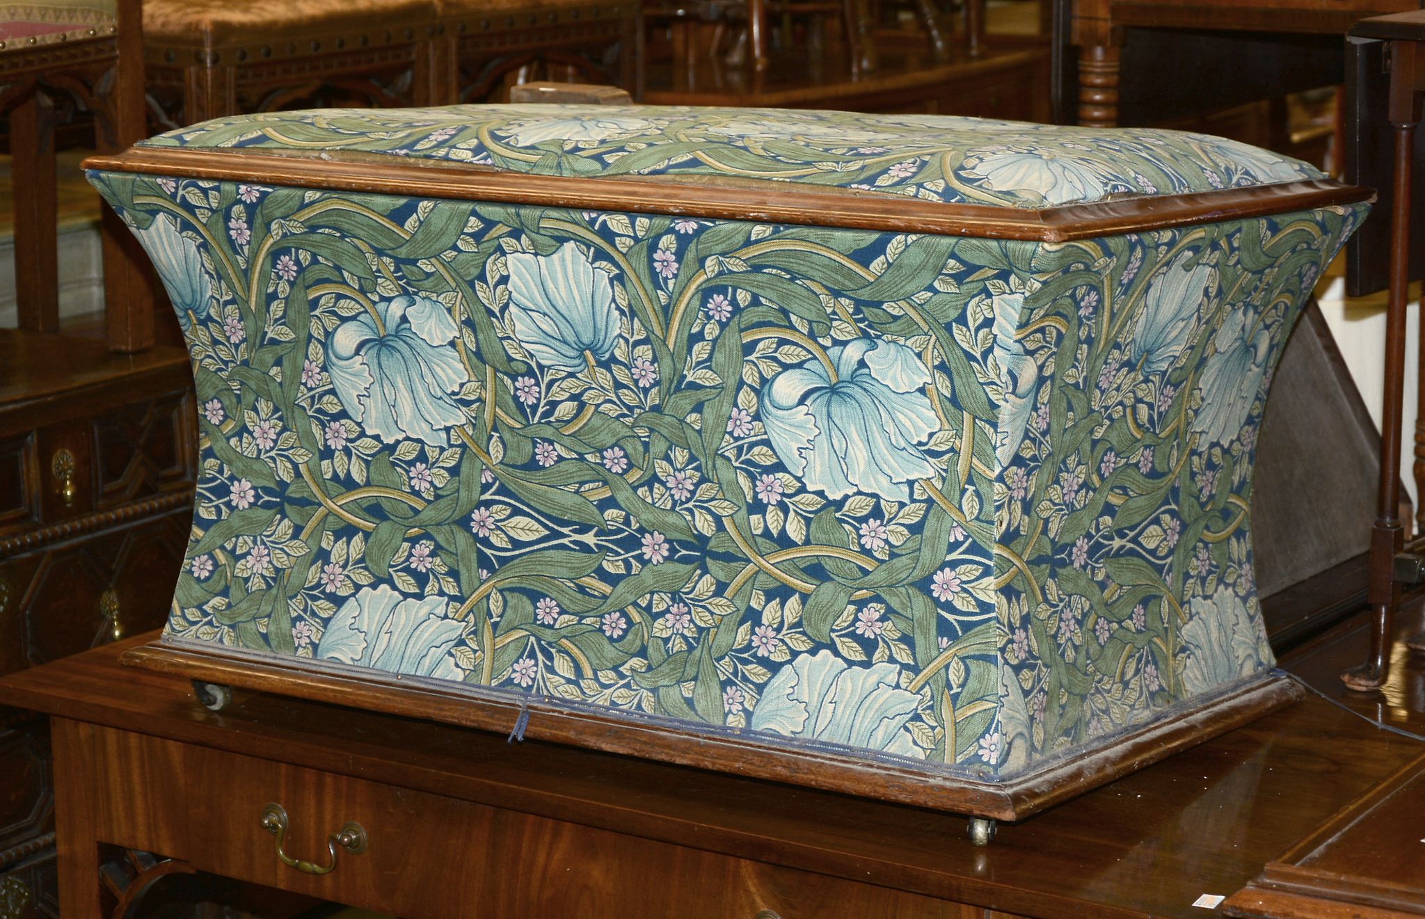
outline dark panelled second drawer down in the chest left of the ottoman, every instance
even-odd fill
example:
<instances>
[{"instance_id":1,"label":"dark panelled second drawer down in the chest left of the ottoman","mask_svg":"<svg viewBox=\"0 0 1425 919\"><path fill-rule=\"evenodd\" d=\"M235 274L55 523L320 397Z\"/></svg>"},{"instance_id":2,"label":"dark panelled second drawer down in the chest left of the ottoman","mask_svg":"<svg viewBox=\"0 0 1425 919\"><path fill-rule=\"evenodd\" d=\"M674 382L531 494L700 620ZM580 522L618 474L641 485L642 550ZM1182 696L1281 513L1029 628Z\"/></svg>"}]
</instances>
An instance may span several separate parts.
<instances>
[{"instance_id":1,"label":"dark panelled second drawer down in the chest left of the ottoman","mask_svg":"<svg viewBox=\"0 0 1425 919\"><path fill-rule=\"evenodd\" d=\"M0 560L0 674L162 625L191 516L180 507Z\"/></svg>"}]
</instances>

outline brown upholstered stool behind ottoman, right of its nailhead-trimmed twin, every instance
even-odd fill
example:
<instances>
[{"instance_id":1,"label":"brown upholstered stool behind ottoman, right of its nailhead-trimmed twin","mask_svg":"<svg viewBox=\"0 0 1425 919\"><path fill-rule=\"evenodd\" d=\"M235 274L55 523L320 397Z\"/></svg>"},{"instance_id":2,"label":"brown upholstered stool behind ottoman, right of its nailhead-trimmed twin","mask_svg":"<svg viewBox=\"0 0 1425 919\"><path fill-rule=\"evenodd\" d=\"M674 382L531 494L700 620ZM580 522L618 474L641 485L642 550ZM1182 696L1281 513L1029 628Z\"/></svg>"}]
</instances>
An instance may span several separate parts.
<instances>
[{"instance_id":1,"label":"brown upholstered stool behind ottoman, right of its nailhead-trimmed twin","mask_svg":"<svg viewBox=\"0 0 1425 919\"><path fill-rule=\"evenodd\" d=\"M640 0L435 0L459 101L504 101L530 80L606 83L638 95Z\"/></svg>"}]
</instances>

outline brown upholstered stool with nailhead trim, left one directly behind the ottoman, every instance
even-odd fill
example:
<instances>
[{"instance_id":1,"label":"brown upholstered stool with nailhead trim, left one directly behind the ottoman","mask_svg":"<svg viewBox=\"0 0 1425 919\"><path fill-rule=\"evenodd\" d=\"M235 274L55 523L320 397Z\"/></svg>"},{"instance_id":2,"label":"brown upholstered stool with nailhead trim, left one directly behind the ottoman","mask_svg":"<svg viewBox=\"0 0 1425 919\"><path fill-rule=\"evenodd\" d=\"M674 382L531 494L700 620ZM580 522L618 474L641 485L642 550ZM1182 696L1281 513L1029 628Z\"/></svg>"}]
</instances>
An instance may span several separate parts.
<instances>
[{"instance_id":1,"label":"brown upholstered stool with nailhead trim, left one directly behind the ottoman","mask_svg":"<svg viewBox=\"0 0 1425 919\"><path fill-rule=\"evenodd\" d=\"M304 104L453 101L435 0L145 0L148 91L178 127Z\"/></svg>"}]
</instances>

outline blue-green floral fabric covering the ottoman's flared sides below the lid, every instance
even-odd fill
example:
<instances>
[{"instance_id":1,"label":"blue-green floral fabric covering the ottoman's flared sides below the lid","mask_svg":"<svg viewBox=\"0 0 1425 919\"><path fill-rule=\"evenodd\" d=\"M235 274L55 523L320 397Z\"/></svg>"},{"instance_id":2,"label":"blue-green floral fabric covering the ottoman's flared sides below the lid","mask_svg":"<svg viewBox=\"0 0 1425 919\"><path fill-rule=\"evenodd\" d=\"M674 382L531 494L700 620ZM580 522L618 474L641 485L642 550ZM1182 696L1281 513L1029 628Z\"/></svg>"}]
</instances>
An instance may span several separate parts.
<instances>
[{"instance_id":1,"label":"blue-green floral fabric covering the ottoman's flared sides below the lid","mask_svg":"<svg viewBox=\"0 0 1425 919\"><path fill-rule=\"evenodd\" d=\"M1255 436L1364 207L1047 245L91 178L198 386L170 640L988 778L1273 665Z\"/></svg>"}]
</instances>

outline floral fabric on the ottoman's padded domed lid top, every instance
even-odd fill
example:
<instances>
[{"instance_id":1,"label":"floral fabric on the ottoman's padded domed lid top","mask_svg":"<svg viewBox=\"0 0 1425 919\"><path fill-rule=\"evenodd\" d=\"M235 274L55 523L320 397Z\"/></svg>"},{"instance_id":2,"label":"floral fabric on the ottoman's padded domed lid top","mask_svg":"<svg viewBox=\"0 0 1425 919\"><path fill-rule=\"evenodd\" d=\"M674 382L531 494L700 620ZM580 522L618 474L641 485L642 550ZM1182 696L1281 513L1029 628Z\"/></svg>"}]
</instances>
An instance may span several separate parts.
<instances>
[{"instance_id":1,"label":"floral fabric on the ottoman's padded domed lid top","mask_svg":"<svg viewBox=\"0 0 1425 919\"><path fill-rule=\"evenodd\" d=\"M1322 178L1183 131L772 108L452 105L218 118L160 147L351 150L537 175L752 178L1016 208Z\"/></svg>"}]
</instances>

